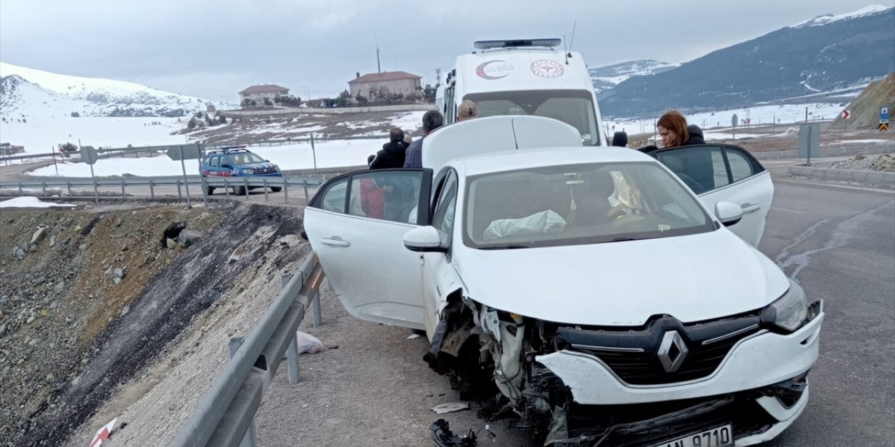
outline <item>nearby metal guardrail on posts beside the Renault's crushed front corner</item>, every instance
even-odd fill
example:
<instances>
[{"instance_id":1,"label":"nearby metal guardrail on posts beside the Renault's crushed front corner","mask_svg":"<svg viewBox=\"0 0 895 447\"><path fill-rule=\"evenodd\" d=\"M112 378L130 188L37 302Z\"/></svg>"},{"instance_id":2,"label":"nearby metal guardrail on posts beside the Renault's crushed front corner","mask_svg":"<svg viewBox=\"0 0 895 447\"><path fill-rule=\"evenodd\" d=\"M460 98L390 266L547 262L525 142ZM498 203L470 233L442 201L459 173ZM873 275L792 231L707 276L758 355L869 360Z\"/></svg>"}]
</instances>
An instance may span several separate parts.
<instances>
[{"instance_id":1,"label":"nearby metal guardrail on posts beside the Renault's crushed front corner","mask_svg":"<svg viewBox=\"0 0 895 447\"><path fill-rule=\"evenodd\" d=\"M264 392L286 355L289 383L298 383L295 331L313 305L314 325L320 325L320 283L324 277L311 251L283 291L244 339L230 339L230 361L202 397L192 417L177 434L173 447L236 447L255 445L255 414Z\"/></svg>"}]
</instances>

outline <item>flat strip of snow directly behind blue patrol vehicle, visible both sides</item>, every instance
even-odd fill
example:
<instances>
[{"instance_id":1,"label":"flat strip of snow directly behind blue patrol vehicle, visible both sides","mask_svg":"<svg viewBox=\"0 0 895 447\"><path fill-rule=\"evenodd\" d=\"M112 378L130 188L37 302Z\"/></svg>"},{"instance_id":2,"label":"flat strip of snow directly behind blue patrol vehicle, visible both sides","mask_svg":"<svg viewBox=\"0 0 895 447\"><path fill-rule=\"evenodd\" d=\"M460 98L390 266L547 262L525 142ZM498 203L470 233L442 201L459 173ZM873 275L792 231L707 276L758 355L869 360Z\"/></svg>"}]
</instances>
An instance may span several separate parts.
<instances>
[{"instance_id":1,"label":"flat strip of snow directly behind blue patrol vehicle, visible both sides","mask_svg":"<svg viewBox=\"0 0 895 447\"><path fill-rule=\"evenodd\" d=\"M317 167L359 166L367 163L367 156L375 154L385 143L383 139L333 139L315 143ZM280 169L311 169L314 157L310 144L294 144L250 148L252 152L279 165ZM61 177L90 177L90 165L83 163L60 163L57 166L45 166L29 173L40 177L55 177L56 167ZM194 174L199 170L198 162L186 162L186 173ZM179 161L167 156L149 158L109 158L100 159L93 165L98 176L137 175L141 177L159 175L181 175L183 168Z\"/></svg>"}]
</instances>

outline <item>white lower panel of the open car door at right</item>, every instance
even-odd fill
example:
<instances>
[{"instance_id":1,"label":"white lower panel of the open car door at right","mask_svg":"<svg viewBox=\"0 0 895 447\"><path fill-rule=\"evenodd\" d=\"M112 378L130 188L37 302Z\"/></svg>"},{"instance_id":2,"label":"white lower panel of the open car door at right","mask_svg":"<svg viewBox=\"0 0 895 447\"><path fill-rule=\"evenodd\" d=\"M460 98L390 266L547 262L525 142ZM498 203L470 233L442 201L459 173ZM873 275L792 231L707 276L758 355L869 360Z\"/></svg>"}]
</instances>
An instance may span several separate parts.
<instances>
[{"instance_id":1,"label":"white lower panel of the open car door at right","mask_svg":"<svg viewBox=\"0 0 895 447\"><path fill-rule=\"evenodd\" d=\"M743 181L703 193L699 198L712 213L715 204L720 201L732 202L742 207L743 220L730 227L730 231L753 247L758 247L764 233L764 221L768 211L771 210L771 200L774 198L771 173L767 171L759 173Z\"/></svg>"}]
</instances>

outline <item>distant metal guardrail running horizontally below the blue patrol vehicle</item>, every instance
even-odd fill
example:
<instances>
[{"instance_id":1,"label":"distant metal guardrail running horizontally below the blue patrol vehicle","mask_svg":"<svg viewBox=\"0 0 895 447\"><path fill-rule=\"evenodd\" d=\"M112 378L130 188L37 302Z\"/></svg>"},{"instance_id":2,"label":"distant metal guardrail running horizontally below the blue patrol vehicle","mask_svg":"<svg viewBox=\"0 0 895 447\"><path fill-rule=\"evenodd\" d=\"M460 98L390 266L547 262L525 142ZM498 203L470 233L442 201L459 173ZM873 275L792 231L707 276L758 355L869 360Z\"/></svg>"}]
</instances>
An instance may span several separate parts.
<instances>
[{"instance_id":1,"label":"distant metal guardrail running horizontally below the blue patrol vehicle","mask_svg":"<svg viewBox=\"0 0 895 447\"><path fill-rule=\"evenodd\" d=\"M251 180L250 180L251 179ZM55 180L42 180L42 181L0 181L0 190L18 190L19 196L25 196L25 190L35 190L34 194L27 194L29 196L37 196L37 190L40 190L40 195L43 198L49 198L50 194L47 194L47 189L65 189L67 190L67 197L74 197L72 194L72 188L77 187L85 187L92 186L94 192L94 198L97 203L99 203L99 198L128 198L127 196L127 187L128 186L137 186L146 188L149 187L149 198L156 198L156 187L164 187L164 186L176 186L177 187L177 198L178 201L183 200L183 193L186 193L186 199L188 203L192 204L192 198L190 197L189 188L200 188L202 191L202 200L207 204L208 203L208 188L221 188L225 191L226 198L230 198L231 195L234 197L244 196L246 200L249 199L249 191L250 188L263 188L264 189L264 200L269 201L268 190L270 188L281 188L284 194L284 199L286 203L289 203L289 190L301 187L304 195L304 203L308 203L311 200L311 192L310 189L312 187L320 186L323 184L324 179L321 177L315 176L284 176L284 177L234 177L234 178L209 178L209 177L187 177L186 179L179 177L142 177L142 178L134 178L134 179L100 179L94 178L93 180L64 180L64 181L55 181ZM121 196L115 195L110 196L107 194L100 195L98 190L99 188L109 188L109 187L121 187ZM240 194L236 194L236 191L239 190ZM55 195L55 194L53 194ZM59 194L62 195L62 194ZM133 197L133 196L132 196Z\"/></svg>"}]
</instances>

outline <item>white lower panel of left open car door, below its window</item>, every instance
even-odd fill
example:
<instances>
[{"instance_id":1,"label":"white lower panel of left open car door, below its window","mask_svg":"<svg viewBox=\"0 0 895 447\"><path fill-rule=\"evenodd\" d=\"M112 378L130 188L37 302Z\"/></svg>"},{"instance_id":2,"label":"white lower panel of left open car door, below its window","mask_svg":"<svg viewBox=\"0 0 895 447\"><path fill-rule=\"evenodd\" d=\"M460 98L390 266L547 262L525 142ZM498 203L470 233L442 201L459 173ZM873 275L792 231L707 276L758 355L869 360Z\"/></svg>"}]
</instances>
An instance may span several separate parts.
<instances>
[{"instance_id":1,"label":"white lower panel of left open car door, below its window","mask_svg":"<svg viewBox=\"0 0 895 447\"><path fill-rule=\"evenodd\" d=\"M425 329L419 254L405 249L402 240L412 224L306 207L304 227L330 287L349 314Z\"/></svg>"}]
</instances>

